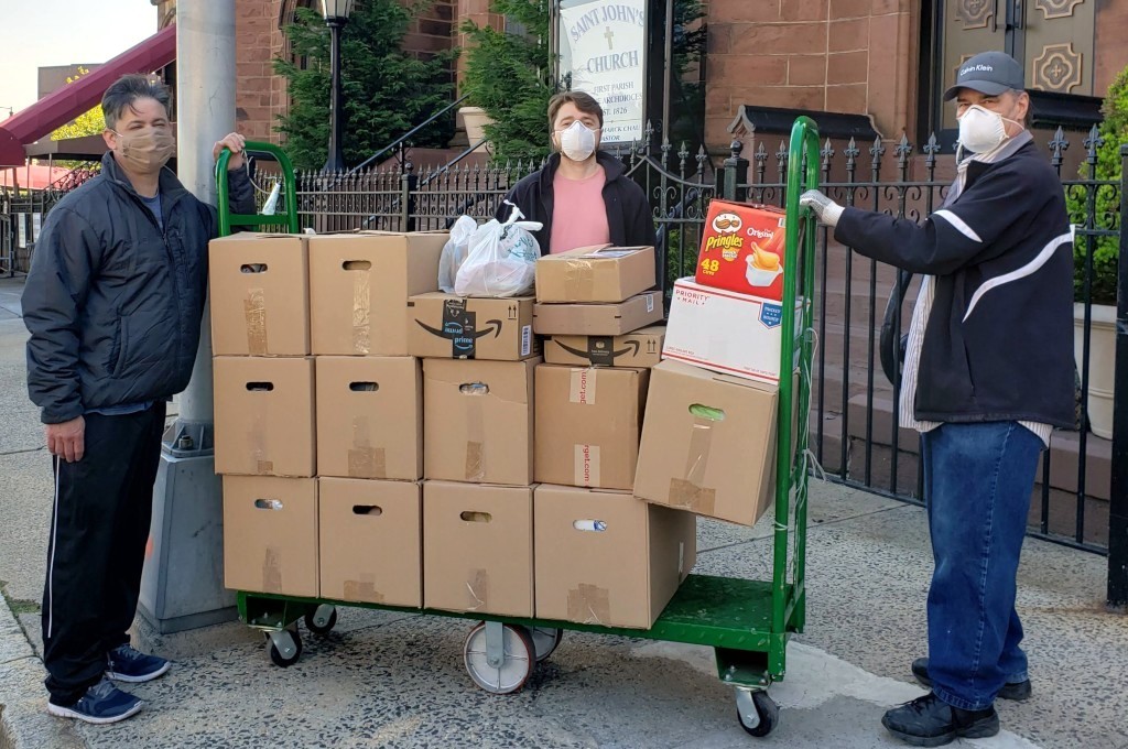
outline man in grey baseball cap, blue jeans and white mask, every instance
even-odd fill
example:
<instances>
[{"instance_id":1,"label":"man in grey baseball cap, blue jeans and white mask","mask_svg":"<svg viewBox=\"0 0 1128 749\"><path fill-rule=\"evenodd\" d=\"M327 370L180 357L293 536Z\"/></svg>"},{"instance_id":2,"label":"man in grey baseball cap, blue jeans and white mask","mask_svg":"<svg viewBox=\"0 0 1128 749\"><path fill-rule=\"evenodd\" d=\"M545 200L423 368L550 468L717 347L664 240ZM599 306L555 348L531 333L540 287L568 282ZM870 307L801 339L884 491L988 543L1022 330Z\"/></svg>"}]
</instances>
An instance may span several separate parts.
<instances>
[{"instance_id":1,"label":"man in grey baseball cap, blue jeans and white mask","mask_svg":"<svg viewBox=\"0 0 1128 749\"><path fill-rule=\"evenodd\" d=\"M1031 694L1015 611L1019 554L1041 451L1073 428L1073 245L1065 197L1024 121L1022 67L977 54L944 92L959 118L955 182L922 223L801 204L855 252L924 275L900 386L901 426L922 433L935 571L932 691L882 719L920 747L998 733L994 703Z\"/></svg>"}]
</instances>

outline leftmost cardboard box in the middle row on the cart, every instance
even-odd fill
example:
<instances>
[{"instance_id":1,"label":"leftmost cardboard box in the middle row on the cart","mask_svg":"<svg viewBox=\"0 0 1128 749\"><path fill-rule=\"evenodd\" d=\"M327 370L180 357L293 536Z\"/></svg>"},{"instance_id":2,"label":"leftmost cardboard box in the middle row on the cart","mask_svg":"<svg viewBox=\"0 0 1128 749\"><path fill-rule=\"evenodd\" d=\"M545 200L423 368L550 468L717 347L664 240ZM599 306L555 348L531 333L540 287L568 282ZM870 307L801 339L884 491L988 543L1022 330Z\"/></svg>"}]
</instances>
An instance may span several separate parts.
<instances>
[{"instance_id":1,"label":"leftmost cardboard box in the middle row on the cart","mask_svg":"<svg viewBox=\"0 0 1128 749\"><path fill-rule=\"evenodd\" d=\"M316 476L314 360L217 356L215 473Z\"/></svg>"}]
</instances>

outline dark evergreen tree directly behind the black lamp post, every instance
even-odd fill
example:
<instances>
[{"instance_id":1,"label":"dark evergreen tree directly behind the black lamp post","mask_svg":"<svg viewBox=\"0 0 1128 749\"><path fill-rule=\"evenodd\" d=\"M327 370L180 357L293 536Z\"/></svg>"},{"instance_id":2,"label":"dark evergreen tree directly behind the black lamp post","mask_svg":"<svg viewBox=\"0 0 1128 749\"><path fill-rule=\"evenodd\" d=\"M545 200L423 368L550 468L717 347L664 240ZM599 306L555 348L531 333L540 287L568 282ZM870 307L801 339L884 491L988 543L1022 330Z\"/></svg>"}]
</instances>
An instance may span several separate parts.
<instances>
[{"instance_id":1,"label":"dark evergreen tree directly behind the black lamp post","mask_svg":"<svg viewBox=\"0 0 1128 749\"><path fill-rule=\"evenodd\" d=\"M397 0L367 0L358 3L342 29L346 164L363 161L451 100L452 55L418 60L400 49L412 12ZM274 61L293 99L275 130L285 134L287 152L298 168L318 169L329 140L329 30L320 14L299 8L284 32L300 62ZM414 146L442 148L451 134L451 122L440 118L412 140Z\"/></svg>"}]
</instances>

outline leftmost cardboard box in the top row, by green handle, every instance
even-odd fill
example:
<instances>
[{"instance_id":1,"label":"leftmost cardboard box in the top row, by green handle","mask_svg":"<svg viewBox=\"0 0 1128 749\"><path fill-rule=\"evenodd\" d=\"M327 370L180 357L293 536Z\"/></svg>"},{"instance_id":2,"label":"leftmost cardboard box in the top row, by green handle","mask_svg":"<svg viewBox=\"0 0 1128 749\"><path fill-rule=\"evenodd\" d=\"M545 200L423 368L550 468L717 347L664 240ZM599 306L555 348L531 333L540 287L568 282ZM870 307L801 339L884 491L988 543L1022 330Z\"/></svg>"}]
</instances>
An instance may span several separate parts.
<instances>
[{"instance_id":1,"label":"leftmost cardboard box in the top row, by green handle","mask_svg":"<svg viewBox=\"0 0 1128 749\"><path fill-rule=\"evenodd\" d=\"M209 245L212 352L309 353L306 237L241 231Z\"/></svg>"}]
</instances>

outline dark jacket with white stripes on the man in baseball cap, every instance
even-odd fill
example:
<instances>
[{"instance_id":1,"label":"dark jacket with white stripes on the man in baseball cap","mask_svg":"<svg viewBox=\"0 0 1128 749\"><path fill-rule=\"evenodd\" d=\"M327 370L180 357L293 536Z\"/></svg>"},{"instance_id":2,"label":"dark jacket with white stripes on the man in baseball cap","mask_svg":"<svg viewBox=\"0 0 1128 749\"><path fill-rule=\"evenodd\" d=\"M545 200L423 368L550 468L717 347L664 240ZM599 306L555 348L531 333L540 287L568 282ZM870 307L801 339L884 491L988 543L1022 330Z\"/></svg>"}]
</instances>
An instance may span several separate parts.
<instances>
[{"instance_id":1,"label":"dark jacket with white stripes on the man in baseball cap","mask_svg":"<svg viewBox=\"0 0 1128 749\"><path fill-rule=\"evenodd\" d=\"M1033 143L972 161L923 224L847 208L835 238L935 276L915 413L1074 428L1073 243L1061 183Z\"/></svg>"}]
</instances>

